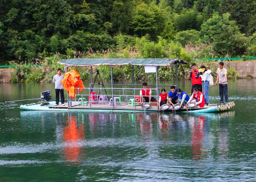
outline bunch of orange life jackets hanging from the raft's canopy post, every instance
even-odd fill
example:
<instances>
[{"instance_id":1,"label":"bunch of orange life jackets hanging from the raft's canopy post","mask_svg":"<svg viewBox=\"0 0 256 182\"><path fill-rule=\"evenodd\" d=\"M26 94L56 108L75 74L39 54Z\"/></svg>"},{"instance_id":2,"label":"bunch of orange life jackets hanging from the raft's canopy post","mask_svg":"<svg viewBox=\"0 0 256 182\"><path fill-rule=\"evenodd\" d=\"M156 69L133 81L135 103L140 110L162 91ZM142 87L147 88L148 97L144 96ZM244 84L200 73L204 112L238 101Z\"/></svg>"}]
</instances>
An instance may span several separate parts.
<instances>
[{"instance_id":1,"label":"bunch of orange life jackets hanging from the raft's canopy post","mask_svg":"<svg viewBox=\"0 0 256 182\"><path fill-rule=\"evenodd\" d=\"M64 90L68 91L68 95L71 98L75 98L77 88L84 88L83 80L80 80L80 75L76 71L76 69L72 69L67 72L64 78L61 80L62 85L64 86ZM83 89L79 89L81 92Z\"/></svg>"}]
</instances>

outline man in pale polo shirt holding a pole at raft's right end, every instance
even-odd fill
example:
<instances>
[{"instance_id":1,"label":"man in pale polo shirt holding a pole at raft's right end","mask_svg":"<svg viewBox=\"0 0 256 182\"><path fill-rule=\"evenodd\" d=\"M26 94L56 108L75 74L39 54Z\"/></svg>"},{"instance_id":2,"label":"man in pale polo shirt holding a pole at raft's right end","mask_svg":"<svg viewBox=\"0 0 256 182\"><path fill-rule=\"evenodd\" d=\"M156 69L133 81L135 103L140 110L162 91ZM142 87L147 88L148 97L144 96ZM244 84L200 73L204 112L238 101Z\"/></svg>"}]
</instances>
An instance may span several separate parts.
<instances>
[{"instance_id":1,"label":"man in pale polo shirt holding a pole at raft's right end","mask_svg":"<svg viewBox=\"0 0 256 182\"><path fill-rule=\"evenodd\" d=\"M223 67L224 62L219 62L219 68L217 69L217 80L215 85L218 84L219 81L219 90L220 90L220 102L223 102L223 98L225 97L224 104L228 104L228 76L227 76L227 69ZM223 83L225 82L225 83Z\"/></svg>"}]
</instances>

